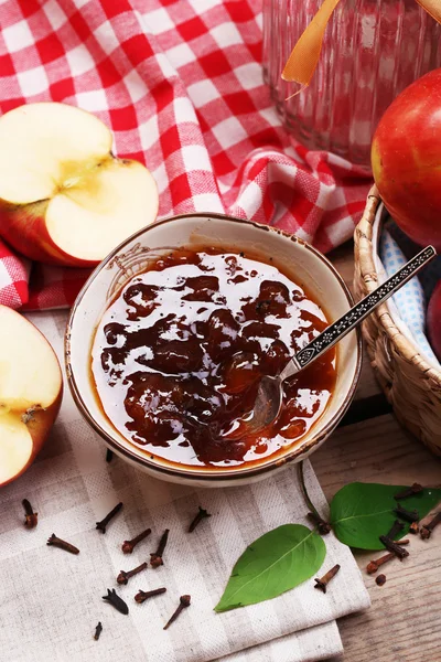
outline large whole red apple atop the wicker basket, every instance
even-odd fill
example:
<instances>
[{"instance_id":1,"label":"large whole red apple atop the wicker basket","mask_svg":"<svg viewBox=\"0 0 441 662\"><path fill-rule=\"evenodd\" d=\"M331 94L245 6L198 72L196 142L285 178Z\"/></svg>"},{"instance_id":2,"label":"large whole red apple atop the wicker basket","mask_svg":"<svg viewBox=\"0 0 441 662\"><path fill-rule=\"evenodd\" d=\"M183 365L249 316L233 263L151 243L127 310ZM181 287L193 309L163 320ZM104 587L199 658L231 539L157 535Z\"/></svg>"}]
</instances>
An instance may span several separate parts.
<instances>
[{"instance_id":1,"label":"large whole red apple atop the wicker basket","mask_svg":"<svg viewBox=\"0 0 441 662\"><path fill-rule=\"evenodd\" d=\"M374 135L372 167L400 228L417 244L441 250L441 68L388 107Z\"/></svg>"}]
</instances>

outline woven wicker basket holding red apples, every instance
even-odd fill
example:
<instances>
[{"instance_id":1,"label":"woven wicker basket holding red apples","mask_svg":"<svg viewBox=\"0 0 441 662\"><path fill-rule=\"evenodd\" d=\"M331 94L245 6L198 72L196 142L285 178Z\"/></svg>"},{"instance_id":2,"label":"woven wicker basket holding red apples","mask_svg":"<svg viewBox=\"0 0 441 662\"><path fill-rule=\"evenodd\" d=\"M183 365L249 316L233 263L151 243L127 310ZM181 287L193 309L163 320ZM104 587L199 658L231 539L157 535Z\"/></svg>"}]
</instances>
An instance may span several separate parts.
<instances>
[{"instance_id":1,"label":"woven wicker basket holding red apples","mask_svg":"<svg viewBox=\"0 0 441 662\"><path fill-rule=\"evenodd\" d=\"M381 200L369 191L362 221L355 229L354 289L357 299L378 285L375 266L376 218ZM418 345L398 329L388 303L363 322L363 337L377 380L398 420L435 455L441 456L441 371L419 353Z\"/></svg>"}]
</instances>

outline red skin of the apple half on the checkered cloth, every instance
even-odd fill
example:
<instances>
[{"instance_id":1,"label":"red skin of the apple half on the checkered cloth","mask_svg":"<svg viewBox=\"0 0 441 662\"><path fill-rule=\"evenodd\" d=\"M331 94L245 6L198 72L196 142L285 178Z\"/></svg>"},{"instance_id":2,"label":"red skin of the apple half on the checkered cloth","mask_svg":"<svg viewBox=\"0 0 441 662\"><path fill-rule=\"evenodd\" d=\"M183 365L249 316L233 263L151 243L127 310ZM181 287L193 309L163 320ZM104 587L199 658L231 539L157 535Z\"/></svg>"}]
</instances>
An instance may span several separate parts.
<instances>
[{"instance_id":1,"label":"red skin of the apple half on the checkered cloth","mask_svg":"<svg viewBox=\"0 0 441 662\"><path fill-rule=\"evenodd\" d=\"M49 201L12 205L0 200L0 236L30 259L60 267L95 267L99 260L78 259L61 250L45 223Z\"/></svg>"}]
</instances>

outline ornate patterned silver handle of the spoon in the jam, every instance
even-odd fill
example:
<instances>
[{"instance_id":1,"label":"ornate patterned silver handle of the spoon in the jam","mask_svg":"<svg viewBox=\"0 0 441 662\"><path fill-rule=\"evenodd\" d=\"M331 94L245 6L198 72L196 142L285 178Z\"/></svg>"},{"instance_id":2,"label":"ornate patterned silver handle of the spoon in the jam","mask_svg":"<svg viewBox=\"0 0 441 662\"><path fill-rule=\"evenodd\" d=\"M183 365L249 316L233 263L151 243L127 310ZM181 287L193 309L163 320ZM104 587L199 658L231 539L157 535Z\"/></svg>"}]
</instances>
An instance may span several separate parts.
<instances>
[{"instance_id":1,"label":"ornate patterned silver handle of the spoon in the jam","mask_svg":"<svg viewBox=\"0 0 441 662\"><path fill-rule=\"evenodd\" d=\"M370 312L380 303L386 301L391 295L400 289L410 278L412 278L423 266L426 266L437 255L433 246L423 248L418 255L412 257L401 269L388 278L383 285L377 287L370 295L358 301L344 316L330 324L320 335L308 343L300 352L291 357L291 361L282 371L280 377L287 377L295 374L305 365L315 361L336 342L357 327Z\"/></svg>"}]
</instances>

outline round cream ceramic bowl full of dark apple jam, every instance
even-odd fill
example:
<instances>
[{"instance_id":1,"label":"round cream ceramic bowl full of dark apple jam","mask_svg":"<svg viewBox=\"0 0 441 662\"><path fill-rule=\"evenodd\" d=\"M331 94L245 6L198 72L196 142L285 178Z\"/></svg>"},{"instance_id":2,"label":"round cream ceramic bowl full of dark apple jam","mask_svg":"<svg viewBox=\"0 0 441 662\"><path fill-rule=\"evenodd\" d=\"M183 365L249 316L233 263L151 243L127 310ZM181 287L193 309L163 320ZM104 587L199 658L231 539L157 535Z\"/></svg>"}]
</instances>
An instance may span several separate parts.
<instances>
[{"instance_id":1,"label":"round cream ceramic bowl full of dark apple jam","mask_svg":"<svg viewBox=\"0 0 441 662\"><path fill-rule=\"evenodd\" d=\"M299 461L335 428L361 365L355 332L283 384L277 419L248 425L262 375L352 305L319 252L279 231L192 214L115 250L78 296L66 365L107 445L165 480L220 487Z\"/></svg>"}]
</instances>

